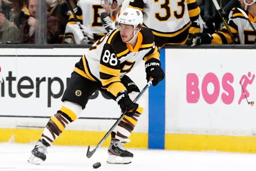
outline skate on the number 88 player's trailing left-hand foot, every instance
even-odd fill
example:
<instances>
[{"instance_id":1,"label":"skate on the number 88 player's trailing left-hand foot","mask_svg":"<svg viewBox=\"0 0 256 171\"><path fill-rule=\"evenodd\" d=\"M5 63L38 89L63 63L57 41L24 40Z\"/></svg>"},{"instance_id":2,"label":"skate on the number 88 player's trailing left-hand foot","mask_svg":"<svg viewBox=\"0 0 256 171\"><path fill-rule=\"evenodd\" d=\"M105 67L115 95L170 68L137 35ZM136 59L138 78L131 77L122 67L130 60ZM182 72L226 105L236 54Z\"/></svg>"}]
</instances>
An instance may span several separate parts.
<instances>
[{"instance_id":1,"label":"skate on the number 88 player's trailing left-hand foot","mask_svg":"<svg viewBox=\"0 0 256 171\"><path fill-rule=\"evenodd\" d=\"M28 162L35 165L40 165L46 159L47 146L45 146L41 141L35 145L34 149L31 151L31 156Z\"/></svg>"}]
</instances>

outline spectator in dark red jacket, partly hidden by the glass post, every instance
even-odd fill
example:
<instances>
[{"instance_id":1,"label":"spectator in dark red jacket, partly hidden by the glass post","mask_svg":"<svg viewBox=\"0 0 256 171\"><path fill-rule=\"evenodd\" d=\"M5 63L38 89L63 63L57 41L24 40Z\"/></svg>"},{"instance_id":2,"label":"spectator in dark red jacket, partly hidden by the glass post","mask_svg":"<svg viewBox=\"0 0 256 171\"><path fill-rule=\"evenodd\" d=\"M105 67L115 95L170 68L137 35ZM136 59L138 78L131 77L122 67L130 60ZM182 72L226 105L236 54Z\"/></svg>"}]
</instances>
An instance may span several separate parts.
<instances>
[{"instance_id":1,"label":"spectator in dark red jacket, partly hidden by the glass post","mask_svg":"<svg viewBox=\"0 0 256 171\"><path fill-rule=\"evenodd\" d=\"M28 1L28 10L30 17L28 20L24 21L20 27L21 30L21 42L22 43L35 43L35 31L38 27L38 20L36 19L37 13L37 1L38 0L29 0ZM47 43L58 43L59 38L59 20L56 17L53 17L49 13L46 14L47 22Z\"/></svg>"}]
</instances>

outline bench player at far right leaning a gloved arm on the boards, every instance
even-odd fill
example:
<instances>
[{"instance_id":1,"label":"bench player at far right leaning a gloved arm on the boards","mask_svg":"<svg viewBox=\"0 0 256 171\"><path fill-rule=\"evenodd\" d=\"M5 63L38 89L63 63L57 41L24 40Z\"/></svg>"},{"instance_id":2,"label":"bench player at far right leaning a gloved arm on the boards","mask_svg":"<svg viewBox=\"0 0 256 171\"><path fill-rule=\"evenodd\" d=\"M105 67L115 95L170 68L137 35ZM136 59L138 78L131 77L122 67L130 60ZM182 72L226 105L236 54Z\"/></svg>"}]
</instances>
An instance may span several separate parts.
<instances>
[{"instance_id":1,"label":"bench player at far right leaning a gloved arm on the boards","mask_svg":"<svg viewBox=\"0 0 256 171\"><path fill-rule=\"evenodd\" d=\"M238 0L238 7L229 13L228 27L226 26L212 35L197 33L191 36L188 46L200 44L256 44L256 0ZM249 18L249 19L247 19Z\"/></svg>"}]
</instances>

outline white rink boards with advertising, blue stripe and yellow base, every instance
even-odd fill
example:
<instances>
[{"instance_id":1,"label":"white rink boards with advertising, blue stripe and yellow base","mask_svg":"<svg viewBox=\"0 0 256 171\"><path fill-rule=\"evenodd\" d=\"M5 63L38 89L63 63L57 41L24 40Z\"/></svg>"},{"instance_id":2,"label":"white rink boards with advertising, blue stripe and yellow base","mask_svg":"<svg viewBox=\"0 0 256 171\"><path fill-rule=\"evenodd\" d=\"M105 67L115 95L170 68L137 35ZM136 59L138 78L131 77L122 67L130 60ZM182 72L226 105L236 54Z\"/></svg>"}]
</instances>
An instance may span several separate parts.
<instances>
[{"instance_id":1,"label":"white rink boards with advertising, blue stripe and yellow base","mask_svg":"<svg viewBox=\"0 0 256 171\"><path fill-rule=\"evenodd\" d=\"M2 48L0 141L31 142L61 107L61 95L83 48ZM142 97L145 112L127 147L255 152L256 50L161 50L166 77ZM129 76L146 84L143 62ZM116 102L96 92L81 118L55 144L95 145L120 115ZM107 146L108 141L103 144Z\"/></svg>"}]
</instances>

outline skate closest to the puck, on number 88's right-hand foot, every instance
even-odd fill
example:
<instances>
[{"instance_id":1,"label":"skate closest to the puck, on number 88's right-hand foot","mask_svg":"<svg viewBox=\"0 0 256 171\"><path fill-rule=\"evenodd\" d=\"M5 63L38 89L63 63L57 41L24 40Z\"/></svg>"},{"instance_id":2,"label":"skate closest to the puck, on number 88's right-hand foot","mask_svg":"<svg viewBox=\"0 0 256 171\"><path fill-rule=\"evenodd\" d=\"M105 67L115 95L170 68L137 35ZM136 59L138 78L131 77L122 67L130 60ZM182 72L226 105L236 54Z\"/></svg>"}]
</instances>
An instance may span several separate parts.
<instances>
[{"instance_id":1,"label":"skate closest to the puck, on number 88's right-hand foot","mask_svg":"<svg viewBox=\"0 0 256 171\"><path fill-rule=\"evenodd\" d=\"M123 143L126 141L118 140L115 138L116 133L111 133L111 142L108 148L109 157L108 164L130 164L132 162L133 153L127 151Z\"/></svg>"}]
</instances>

